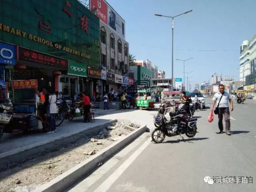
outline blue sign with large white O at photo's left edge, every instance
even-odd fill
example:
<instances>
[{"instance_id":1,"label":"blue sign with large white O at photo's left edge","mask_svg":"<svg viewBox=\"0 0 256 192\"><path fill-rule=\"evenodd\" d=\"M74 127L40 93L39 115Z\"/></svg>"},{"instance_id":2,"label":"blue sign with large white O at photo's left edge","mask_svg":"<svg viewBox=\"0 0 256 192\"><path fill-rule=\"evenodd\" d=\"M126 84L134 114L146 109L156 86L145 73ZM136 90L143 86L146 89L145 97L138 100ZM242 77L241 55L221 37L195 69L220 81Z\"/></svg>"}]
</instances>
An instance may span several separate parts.
<instances>
[{"instance_id":1,"label":"blue sign with large white O at photo's left edge","mask_svg":"<svg viewBox=\"0 0 256 192\"><path fill-rule=\"evenodd\" d=\"M6 65L15 65L15 46L0 43L0 63Z\"/></svg>"}]
</instances>

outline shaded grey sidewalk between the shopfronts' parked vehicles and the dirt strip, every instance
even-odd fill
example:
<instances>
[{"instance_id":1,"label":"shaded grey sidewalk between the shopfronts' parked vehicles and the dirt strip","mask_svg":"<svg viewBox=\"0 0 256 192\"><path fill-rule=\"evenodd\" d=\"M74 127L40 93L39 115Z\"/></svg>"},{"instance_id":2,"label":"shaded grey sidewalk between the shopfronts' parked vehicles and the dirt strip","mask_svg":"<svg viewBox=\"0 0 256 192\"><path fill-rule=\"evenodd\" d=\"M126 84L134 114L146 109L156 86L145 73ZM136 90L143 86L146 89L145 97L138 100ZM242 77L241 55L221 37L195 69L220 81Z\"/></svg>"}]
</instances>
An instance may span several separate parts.
<instances>
[{"instance_id":1,"label":"shaded grey sidewalk between the shopfronts' parked vehicles and the dirt strip","mask_svg":"<svg viewBox=\"0 0 256 192\"><path fill-rule=\"evenodd\" d=\"M82 132L94 126L100 126L112 119L103 118L102 115L109 114L115 110L93 109L95 113L94 123L83 123L83 117L74 118L72 121L64 120L64 122L56 128L56 133L42 133L40 130L31 130L28 133L5 134L0 141L0 158L15 154L17 152L47 144L54 140L65 138L67 136Z\"/></svg>"}]
</instances>

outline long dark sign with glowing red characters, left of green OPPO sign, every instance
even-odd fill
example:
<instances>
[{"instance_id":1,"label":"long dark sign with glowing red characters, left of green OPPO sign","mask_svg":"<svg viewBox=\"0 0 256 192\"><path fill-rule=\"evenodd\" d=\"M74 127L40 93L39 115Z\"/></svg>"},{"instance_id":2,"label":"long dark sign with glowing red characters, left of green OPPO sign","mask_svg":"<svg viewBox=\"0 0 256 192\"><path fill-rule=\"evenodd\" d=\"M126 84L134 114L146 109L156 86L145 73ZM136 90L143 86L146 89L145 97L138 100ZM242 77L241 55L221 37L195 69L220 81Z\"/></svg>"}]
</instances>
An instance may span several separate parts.
<instances>
[{"instance_id":1,"label":"long dark sign with glowing red characters, left of green OPPO sign","mask_svg":"<svg viewBox=\"0 0 256 192\"><path fill-rule=\"evenodd\" d=\"M36 64L43 64L51 67L56 67L62 70L68 69L68 60L39 53L33 50L19 47L18 60L28 61Z\"/></svg>"}]
</instances>

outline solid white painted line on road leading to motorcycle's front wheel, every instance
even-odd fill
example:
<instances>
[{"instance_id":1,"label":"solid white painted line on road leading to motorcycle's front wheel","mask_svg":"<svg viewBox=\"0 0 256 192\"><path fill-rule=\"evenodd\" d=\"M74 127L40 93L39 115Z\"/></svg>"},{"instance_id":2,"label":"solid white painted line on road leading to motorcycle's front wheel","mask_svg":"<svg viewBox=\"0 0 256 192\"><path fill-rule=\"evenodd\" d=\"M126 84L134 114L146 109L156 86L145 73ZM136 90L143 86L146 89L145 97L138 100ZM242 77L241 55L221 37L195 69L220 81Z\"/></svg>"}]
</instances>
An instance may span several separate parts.
<instances>
[{"instance_id":1,"label":"solid white painted line on road leading to motorcycle's front wheel","mask_svg":"<svg viewBox=\"0 0 256 192\"><path fill-rule=\"evenodd\" d=\"M106 192L110 186L121 176L121 174L132 164L132 162L141 154L141 152L150 144L151 137L146 140L138 150L134 152L112 175L108 177L94 192Z\"/></svg>"}]
</instances>

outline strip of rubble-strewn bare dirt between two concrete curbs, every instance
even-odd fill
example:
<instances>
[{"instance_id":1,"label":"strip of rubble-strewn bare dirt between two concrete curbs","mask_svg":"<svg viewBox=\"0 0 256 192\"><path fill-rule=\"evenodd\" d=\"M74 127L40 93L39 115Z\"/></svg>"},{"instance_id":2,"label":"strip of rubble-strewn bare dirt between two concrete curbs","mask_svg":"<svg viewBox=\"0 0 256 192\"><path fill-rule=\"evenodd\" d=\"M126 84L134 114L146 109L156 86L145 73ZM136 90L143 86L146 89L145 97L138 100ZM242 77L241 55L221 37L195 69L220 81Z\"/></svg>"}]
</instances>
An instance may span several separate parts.
<instances>
[{"instance_id":1,"label":"strip of rubble-strewn bare dirt between two concrete curbs","mask_svg":"<svg viewBox=\"0 0 256 192\"><path fill-rule=\"evenodd\" d=\"M130 127L130 128L129 128ZM17 167L0 172L0 192L30 192L122 139L139 128L127 122L113 123L97 135L88 135L63 146L56 152L29 160ZM99 166L104 162L99 162Z\"/></svg>"}]
</instances>

